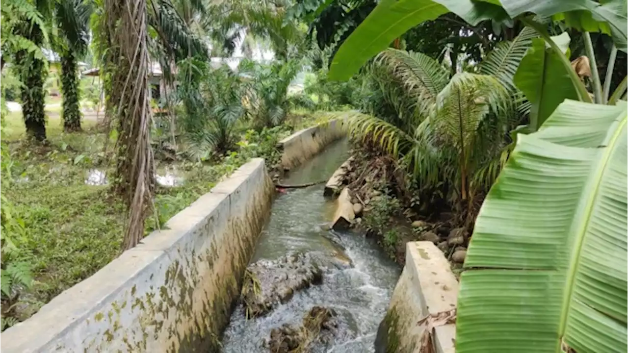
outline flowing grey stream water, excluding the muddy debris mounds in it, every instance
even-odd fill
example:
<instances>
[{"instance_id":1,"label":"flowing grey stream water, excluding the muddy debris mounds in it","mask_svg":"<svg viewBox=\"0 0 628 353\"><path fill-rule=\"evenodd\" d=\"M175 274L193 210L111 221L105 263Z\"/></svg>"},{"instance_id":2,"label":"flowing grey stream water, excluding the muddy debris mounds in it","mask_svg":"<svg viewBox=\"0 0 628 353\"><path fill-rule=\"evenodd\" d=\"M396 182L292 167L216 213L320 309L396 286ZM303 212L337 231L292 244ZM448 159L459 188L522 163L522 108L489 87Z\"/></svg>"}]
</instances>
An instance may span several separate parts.
<instances>
[{"instance_id":1,"label":"flowing grey stream water, excluding the muddy debris mounds in it","mask_svg":"<svg viewBox=\"0 0 628 353\"><path fill-rule=\"evenodd\" d=\"M323 153L291 171L286 184L327 180L347 158L347 143L330 145ZM326 352L373 352L379 322L385 315L399 277L396 264L362 234L323 231L332 217L332 202L323 198L323 184L290 189L279 195L261 234L252 261L274 260L291 251L323 251L344 247L353 266L327 271L322 284L296 291L293 298L268 315L246 320L237 308L225 331L224 353L267 353L263 346L272 329L284 323L299 324L311 307L332 308L345 328ZM333 239L331 241L330 239ZM337 244L334 244L336 242ZM316 350L317 352L320 350Z\"/></svg>"}]
</instances>

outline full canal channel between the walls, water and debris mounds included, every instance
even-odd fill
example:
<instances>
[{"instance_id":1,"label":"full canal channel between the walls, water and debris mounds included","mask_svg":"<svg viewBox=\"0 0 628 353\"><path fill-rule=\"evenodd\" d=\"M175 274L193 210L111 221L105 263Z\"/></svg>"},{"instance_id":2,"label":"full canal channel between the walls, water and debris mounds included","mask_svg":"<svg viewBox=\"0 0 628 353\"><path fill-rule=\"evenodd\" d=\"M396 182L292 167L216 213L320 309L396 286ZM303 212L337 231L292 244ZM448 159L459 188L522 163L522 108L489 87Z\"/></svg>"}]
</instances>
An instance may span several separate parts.
<instances>
[{"instance_id":1,"label":"full canal channel between the walls, water and debris mounds included","mask_svg":"<svg viewBox=\"0 0 628 353\"><path fill-rule=\"evenodd\" d=\"M333 143L282 183L327 180L346 157L347 142ZM374 352L399 269L371 239L326 230L323 184L274 200L222 352Z\"/></svg>"}]
</instances>

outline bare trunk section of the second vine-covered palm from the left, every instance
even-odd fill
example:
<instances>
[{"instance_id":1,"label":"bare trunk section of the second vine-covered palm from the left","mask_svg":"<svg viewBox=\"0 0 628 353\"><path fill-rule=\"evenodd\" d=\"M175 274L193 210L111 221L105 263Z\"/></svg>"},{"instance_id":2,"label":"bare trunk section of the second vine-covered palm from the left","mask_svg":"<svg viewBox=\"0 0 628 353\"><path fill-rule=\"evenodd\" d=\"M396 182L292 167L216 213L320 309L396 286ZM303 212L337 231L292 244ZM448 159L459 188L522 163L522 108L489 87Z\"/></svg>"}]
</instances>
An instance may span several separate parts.
<instances>
[{"instance_id":1,"label":"bare trunk section of the second vine-covered palm from the left","mask_svg":"<svg viewBox=\"0 0 628 353\"><path fill-rule=\"evenodd\" d=\"M61 90L63 94L63 129L67 133L81 131L78 65L77 58L72 52L66 52L61 56Z\"/></svg>"}]
</instances>

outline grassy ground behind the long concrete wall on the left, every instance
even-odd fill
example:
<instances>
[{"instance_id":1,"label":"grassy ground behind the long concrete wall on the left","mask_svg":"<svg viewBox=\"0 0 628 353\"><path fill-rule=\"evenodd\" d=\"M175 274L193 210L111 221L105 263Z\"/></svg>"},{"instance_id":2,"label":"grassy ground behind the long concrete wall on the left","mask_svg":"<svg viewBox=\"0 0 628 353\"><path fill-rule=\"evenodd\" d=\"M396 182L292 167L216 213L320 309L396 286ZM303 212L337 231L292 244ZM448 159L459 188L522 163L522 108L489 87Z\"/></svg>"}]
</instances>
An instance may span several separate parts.
<instances>
[{"instance_id":1,"label":"grassy ground behind the long concrete wall on the left","mask_svg":"<svg viewBox=\"0 0 628 353\"><path fill-rule=\"evenodd\" d=\"M221 158L156 161L158 175L167 169L183 182L174 187L157 186L155 212L146 222L146 234L251 158L267 158L269 164L277 161L277 141L315 119L293 119L294 126L262 132L242 131L237 151ZM89 185L113 174L111 155L104 151L107 136L96 131L94 124L85 123L83 133L65 134L58 117L51 117L46 146L20 142L23 123L14 116L9 116L6 125L11 181L0 186L4 188L0 194L13 204L14 216L23 221L24 235L17 239L18 247L33 265L36 280L33 288L21 293L16 306L16 317L24 320L121 253L127 215L121 200L109 193L108 180L106 185Z\"/></svg>"}]
</instances>

